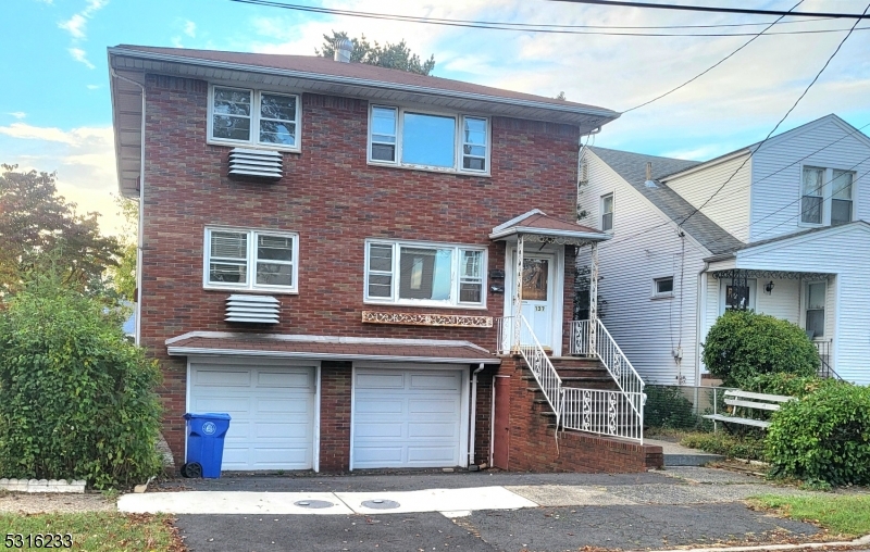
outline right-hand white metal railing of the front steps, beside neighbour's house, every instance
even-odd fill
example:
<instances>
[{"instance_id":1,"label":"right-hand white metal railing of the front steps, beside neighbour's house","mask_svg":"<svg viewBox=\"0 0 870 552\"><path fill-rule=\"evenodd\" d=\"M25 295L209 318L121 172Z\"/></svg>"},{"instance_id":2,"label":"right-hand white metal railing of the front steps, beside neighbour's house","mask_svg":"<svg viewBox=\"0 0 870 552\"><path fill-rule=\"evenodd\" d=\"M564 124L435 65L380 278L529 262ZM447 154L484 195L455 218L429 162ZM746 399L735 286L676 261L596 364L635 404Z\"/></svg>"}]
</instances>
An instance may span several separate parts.
<instances>
[{"instance_id":1,"label":"right-hand white metal railing of the front steps, beside neighbour's house","mask_svg":"<svg viewBox=\"0 0 870 552\"><path fill-rule=\"evenodd\" d=\"M592 325L595 324L595 343L591 343ZM594 350L593 350L594 348ZM619 348L617 341L600 319L574 321L571 324L571 354L591 356L601 361L610 377L619 386L623 396L630 399L632 410L637 417L636 424L644 425L644 380L634 369L629 357Z\"/></svg>"}]
</instances>

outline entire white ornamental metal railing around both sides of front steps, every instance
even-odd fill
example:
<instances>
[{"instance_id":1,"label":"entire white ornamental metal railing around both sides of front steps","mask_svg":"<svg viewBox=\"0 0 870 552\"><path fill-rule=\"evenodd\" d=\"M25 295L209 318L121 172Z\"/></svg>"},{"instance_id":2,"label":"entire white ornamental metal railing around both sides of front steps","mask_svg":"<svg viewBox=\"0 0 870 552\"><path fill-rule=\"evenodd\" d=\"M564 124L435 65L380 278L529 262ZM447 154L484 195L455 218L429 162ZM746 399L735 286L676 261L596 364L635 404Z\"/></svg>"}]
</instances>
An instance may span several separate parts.
<instances>
[{"instance_id":1,"label":"entire white ornamental metal railing around both sides of front steps","mask_svg":"<svg viewBox=\"0 0 870 552\"><path fill-rule=\"evenodd\" d=\"M512 350L515 352L515 349L507 344L512 341L510 336L514 335L513 321L513 317L497 318L496 321L498 330L496 350L500 354L508 354ZM523 340L529 342L521 342L519 352L532 371L550 409L556 413L557 430L561 425L564 429L621 437L643 444L644 381L600 322L598 323L600 336L598 346L595 352L589 352L587 355L598 357L605 364L608 373L619 386L619 391L564 387L525 316L520 316L520 323L523 329ZM585 354L575 349L575 342L579 342L576 336L584 331L584 324L588 325L588 321L574 322L572 353ZM588 328L585 330L588 336ZM588 349L588 339L585 342Z\"/></svg>"}]
</instances>

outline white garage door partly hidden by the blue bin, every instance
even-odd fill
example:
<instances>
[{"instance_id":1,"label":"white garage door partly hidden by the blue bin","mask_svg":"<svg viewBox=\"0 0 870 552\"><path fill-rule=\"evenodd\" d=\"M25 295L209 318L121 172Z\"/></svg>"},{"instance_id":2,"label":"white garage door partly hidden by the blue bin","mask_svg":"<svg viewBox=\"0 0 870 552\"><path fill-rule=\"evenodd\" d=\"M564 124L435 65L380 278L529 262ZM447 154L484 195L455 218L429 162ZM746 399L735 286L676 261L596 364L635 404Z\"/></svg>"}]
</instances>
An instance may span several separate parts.
<instances>
[{"instance_id":1,"label":"white garage door partly hidden by the blue bin","mask_svg":"<svg viewBox=\"0 0 870 552\"><path fill-rule=\"evenodd\" d=\"M222 469L311 469L314 368L190 365L190 412L233 418Z\"/></svg>"}]
</instances>

